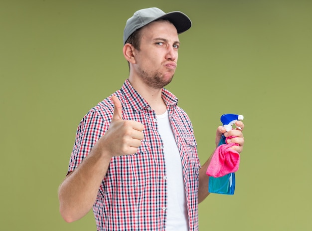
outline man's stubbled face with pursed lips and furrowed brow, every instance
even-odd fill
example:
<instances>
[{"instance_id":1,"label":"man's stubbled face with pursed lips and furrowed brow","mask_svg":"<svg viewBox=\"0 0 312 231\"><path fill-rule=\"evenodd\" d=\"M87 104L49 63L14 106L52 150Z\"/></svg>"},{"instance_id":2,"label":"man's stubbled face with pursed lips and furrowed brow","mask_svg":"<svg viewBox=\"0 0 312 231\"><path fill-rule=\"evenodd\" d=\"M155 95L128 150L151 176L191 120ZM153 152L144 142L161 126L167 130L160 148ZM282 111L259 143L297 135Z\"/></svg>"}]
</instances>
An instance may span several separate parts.
<instances>
[{"instance_id":1,"label":"man's stubbled face with pursed lips and furrowed brow","mask_svg":"<svg viewBox=\"0 0 312 231\"><path fill-rule=\"evenodd\" d=\"M172 23L155 21L146 25L141 31L140 50L135 50L135 75L154 89L167 85L175 72L179 45Z\"/></svg>"}]
</instances>

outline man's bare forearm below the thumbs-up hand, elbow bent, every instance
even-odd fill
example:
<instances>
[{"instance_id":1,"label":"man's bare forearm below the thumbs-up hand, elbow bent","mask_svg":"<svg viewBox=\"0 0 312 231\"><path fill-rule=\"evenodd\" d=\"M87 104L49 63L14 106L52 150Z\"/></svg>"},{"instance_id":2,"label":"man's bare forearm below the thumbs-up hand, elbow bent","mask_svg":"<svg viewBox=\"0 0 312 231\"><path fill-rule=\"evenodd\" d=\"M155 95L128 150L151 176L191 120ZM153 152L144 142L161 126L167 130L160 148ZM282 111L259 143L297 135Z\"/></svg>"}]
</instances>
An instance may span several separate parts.
<instances>
[{"instance_id":1,"label":"man's bare forearm below the thumbs-up hand, elbow bent","mask_svg":"<svg viewBox=\"0 0 312 231\"><path fill-rule=\"evenodd\" d=\"M84 217L92 208L110 163L96 148L59 187L60 213L66 222Z\"/></svg>"}]
</instances>

